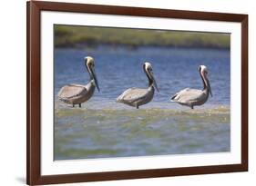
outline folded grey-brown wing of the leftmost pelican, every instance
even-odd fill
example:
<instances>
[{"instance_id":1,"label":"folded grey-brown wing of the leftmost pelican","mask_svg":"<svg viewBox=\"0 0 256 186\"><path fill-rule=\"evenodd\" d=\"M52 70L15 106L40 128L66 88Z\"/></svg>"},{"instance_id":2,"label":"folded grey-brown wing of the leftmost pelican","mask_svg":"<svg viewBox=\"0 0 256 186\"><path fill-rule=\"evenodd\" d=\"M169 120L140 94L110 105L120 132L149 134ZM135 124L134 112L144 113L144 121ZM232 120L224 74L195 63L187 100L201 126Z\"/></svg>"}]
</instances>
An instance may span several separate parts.
<instances>
[{"instance_id":1,"label":"folded grey-brown wing of the leftmost pelican","mask_svg":"<svg viewBox=\"0 0 256 186\"><path fill-rule=\"evenodd\" d=\"M87 88L80 84L67 84L57 94L59 98L70 99L81 94L86 94Z\"/></svg>"}]
</instances>

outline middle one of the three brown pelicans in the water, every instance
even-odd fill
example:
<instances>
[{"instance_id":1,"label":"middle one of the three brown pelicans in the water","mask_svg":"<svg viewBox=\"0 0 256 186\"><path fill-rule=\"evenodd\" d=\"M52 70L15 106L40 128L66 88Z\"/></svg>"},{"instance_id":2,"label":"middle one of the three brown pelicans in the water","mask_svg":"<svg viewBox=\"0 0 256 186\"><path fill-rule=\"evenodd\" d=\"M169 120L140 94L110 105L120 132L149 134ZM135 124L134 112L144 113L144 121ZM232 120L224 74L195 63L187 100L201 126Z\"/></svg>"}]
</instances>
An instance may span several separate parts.
<instances>
[{"instance_id":1,"label":"middle one of the three brown pelicans in the water","mask_svg":"<svg viewBox=\"0 0 256 186\"><path fill-rule=\"evenodd\" d=\"M118 96L118 103L125 103L138 109L138 106L146 104L152 100L155 88L159 92L158 85L152 73L151 64L149 64L148 62L143 64L143 70L148 77L148 88L129 88L124 93Z\"/></svg>"}]
</instances>

